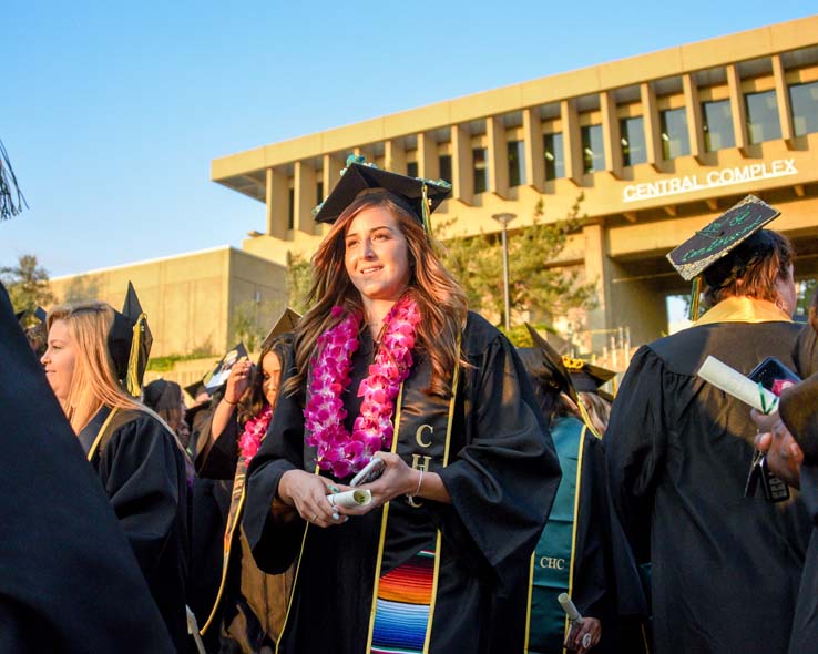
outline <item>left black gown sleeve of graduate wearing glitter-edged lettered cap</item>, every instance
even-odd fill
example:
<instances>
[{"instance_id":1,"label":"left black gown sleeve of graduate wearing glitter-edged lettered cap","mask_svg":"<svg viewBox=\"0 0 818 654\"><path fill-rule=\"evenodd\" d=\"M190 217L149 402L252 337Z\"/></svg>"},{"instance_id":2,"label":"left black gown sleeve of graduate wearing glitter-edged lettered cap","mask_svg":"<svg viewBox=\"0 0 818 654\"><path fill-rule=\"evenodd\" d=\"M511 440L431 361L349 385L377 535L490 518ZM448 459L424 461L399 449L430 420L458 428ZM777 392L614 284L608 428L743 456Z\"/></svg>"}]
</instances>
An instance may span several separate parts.
<instances>
[{"instance_id":1,"label":"left black gown sleeve of graduate wearing glitter-edged lettered cap","mask_svg":"<svg viewBox=\"0 0 818 654\"><path fill-rule=\"evenodd\" d=\"M651 512L667 442L662 360L647 347L634 355L605 430L611 499L637 561L650 560Z\"/></svg>"}]
</instances>

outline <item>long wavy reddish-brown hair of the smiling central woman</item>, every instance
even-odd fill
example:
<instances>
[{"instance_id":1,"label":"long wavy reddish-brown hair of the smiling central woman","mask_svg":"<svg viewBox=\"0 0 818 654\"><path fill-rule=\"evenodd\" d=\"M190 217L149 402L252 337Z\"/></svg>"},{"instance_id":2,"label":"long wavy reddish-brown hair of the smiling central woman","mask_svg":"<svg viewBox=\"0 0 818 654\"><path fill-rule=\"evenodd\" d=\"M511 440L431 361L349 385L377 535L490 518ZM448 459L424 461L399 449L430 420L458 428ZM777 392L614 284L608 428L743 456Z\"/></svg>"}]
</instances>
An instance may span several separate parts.
<instances>
[{"instance_id":1,"label":"long wavy reddish-brown hair of the smiling central woman","mask_svg":"<svg viewBox=\"0 0 818 654\"><path fill-rule=\"evenodd\" d=\"M409 293L421 315L416 350L426 354L432 367L427 392L440 396L451 392L451 378L460 359L458 337L466 324L466 294L438 259L417 217L396 203L395 197L386 191L368 193L355 200L335 222L313 257L313 287L308 299L316 303L296 328L297 372L287 381L287 392L304 388L318 336L340 321L340 317L333 317L333 307L339 305L347 311L364 310L360 293L352 285L344 263L345 236L360 212L376 206L389 211L397 218L407 241Z\"/></svg>"}]
</instances>

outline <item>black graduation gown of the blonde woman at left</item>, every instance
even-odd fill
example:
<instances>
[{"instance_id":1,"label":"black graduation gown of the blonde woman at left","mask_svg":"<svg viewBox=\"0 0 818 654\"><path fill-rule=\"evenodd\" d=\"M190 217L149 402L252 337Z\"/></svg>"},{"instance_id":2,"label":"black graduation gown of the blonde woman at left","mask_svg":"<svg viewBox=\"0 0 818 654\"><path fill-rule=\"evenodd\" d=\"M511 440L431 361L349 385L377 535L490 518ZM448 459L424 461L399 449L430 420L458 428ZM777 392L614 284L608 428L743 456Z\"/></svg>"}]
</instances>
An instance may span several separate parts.
<instances>
[{"instance_id":1,"label":"black graduation gown of the blonde woman at left","mask_svg":"<svg viewBox=\"0 0 818 654\"><path fill-rule=\"evenodd\" d=\"M79 439L88 453L111 410L100 409ZM146 410L120 410L92 466L136 554L177 652L187 647L190 543L185 459L171 431Z\"/></svg>"}]
</instances>

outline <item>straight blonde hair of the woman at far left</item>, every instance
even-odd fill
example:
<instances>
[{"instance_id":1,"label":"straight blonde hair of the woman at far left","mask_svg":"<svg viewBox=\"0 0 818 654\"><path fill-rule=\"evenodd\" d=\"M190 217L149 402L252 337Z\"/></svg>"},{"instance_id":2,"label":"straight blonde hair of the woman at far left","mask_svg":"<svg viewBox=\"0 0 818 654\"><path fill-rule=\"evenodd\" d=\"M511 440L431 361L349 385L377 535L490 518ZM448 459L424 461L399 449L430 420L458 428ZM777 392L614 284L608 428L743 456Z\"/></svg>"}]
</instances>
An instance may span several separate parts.
<instances>
[{"instance_id":1,"label":"straight blonde hair of the woman at far left","mask_svg":"<svg viewBox=\"0 0 818 654\"><path fill-rule=\"evenodd\" d=\"M100 407L141 409L120 386L115 366L108 348L108 333L114 310L101 302L64 304L52 308L47 319L48 329L57 320L65 321L73 341L74 372L62 410L75 433L94 417Z\"/></svg>"}]
</instances>

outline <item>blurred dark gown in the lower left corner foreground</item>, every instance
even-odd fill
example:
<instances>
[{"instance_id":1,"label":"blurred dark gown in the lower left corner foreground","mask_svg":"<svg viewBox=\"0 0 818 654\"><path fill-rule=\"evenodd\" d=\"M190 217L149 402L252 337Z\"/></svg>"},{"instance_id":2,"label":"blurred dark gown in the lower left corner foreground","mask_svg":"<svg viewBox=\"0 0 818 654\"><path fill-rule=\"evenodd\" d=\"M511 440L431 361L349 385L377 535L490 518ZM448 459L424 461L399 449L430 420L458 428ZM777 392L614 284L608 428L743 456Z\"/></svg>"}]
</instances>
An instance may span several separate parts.
<instances>
[{"instance_id":1,"label":"blurred dark gown in the lower left corner foreground","mask_svg":"<svg viewBox=\"0 0 818 654\"><path fill-rule=\"evenodd\" d=\"M0 652L173 652L0 285Z\"/></svg>"}]
</instances>

